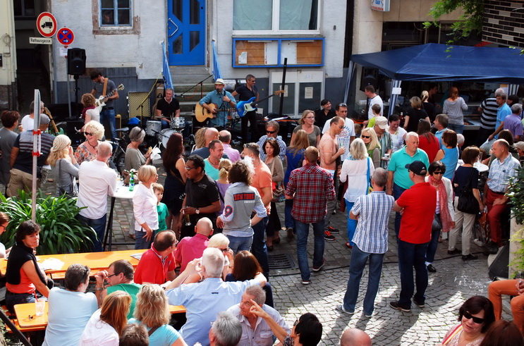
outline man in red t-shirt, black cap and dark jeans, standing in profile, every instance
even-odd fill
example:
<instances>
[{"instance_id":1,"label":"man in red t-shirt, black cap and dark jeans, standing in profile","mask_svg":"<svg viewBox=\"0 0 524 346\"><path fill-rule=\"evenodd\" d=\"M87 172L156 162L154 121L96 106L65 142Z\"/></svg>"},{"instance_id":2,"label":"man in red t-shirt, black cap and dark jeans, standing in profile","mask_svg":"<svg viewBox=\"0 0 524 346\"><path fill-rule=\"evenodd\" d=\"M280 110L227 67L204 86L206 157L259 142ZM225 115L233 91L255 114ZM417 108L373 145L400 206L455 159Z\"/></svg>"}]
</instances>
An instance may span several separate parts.
<instances>
[{"instance_id":1,"label":"man in red t-shirt, black cap and dark jeans, standing in profile","mask_svg":"<svg viewBox=\"0 0 524 346\"><path fill-rule=\"evenodd\" d=\"M426 250L431 240L431 226L437 209L437 190L425 183L427 167L422 161L406 165L409 178L414 185L401 194L393 210L402 214L401 229L398 233L398 270L401 272L401 295L389 305L401 311L411 311L411 297L418 307L424 307L427 288ZM415 285L413 285L415 267Z\"/></svg>"}]
</instances>

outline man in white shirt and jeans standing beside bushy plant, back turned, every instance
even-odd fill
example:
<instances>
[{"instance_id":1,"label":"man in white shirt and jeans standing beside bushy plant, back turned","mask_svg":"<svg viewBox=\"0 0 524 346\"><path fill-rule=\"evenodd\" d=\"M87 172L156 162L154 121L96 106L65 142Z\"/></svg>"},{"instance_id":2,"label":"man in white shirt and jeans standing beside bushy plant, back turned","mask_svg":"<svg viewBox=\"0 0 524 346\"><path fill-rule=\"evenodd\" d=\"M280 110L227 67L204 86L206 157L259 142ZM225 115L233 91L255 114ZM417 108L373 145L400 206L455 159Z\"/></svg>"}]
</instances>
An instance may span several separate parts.
<instances>
[{"instance_id":1,"label":"man in white shirt and jeans standing beside bushy plant, back turned","mask_svg":"<svg viewBox=\"0 0 524 346\"><path fill-rule=\"evenodd\" d=\"M78 177L80 186L76 205L80 208L78 220L90 225L97 233L93 239L95 251L102 251L104 228L106 226L107 195L114 196L116 190L116 172L107 166L112 147L109 142L101 142L97 147L97 159L84 161L80 165Z\"/></svg>"}]
</instances>

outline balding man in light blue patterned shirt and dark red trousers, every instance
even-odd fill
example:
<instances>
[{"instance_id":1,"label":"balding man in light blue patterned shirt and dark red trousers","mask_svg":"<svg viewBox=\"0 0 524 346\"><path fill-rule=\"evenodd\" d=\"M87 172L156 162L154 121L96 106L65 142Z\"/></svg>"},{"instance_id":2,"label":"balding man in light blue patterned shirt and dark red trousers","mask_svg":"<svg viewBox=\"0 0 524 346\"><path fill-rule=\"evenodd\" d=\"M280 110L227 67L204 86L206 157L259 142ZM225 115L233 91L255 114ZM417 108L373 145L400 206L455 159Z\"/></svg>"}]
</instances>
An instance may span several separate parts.
<instances>
[{"instance_id":1,"label":"balding man in light blue patterned shirt and dark red trousers","mask_svg":"<svg viewBox=\"0 0 524 346\"><path fill-rule=\"evenodd\" d=\"M491 229L491 240L486 247L490 254L496 254L502 246L501 216L508 208L508 179L517 175L520 163L509 153L506 140L496 140L492 149L496 159L489 168L482 203L487 206L487 221Z\"/></svg>"}]
</instances>

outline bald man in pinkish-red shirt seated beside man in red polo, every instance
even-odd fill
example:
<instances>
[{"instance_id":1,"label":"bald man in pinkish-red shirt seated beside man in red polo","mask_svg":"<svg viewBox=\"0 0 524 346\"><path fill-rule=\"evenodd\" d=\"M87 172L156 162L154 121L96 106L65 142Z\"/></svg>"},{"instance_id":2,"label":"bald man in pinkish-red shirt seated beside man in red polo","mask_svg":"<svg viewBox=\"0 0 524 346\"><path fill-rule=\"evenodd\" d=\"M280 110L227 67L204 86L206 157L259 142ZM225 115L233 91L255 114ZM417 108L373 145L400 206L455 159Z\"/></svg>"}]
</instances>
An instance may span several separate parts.
<instances>
[{"instance_id":1,"label":"bald man in pinkish-red shirt seated beside man in red polo","mask_svg":"<svg viewBox=\"0 0 524 346\"><path fill-rule=\"evenodd\" d=\"M175 261L180 265L180 272L185 271L185 266L193 259L200 259L207 249L209 237L213 234L213 223L209 218L201 218L195 225L193 237L183 237L175 250Z\"/></svg>"}]
</instances>

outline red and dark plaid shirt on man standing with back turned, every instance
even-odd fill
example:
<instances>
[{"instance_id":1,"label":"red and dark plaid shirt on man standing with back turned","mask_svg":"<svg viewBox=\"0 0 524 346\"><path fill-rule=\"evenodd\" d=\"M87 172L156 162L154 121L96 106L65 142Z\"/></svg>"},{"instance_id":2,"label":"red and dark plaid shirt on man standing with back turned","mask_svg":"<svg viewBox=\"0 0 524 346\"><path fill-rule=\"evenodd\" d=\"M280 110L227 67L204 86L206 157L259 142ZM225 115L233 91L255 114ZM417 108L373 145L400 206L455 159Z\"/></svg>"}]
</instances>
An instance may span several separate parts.
<instances>
[{"instance_id":1,"label":"red and dark plaid shirt on man standing with back turned","mask_svg":"<svg viewBox=\"0 0 524 346\"><path fill-rule=\"evenodd\" d=\"M307 163L291 172L286 194L295 198L291 216L302 223L320 222L326 217L327 201L335 199L331 174L317 164Z\"/></svg>"}]
</instances>

